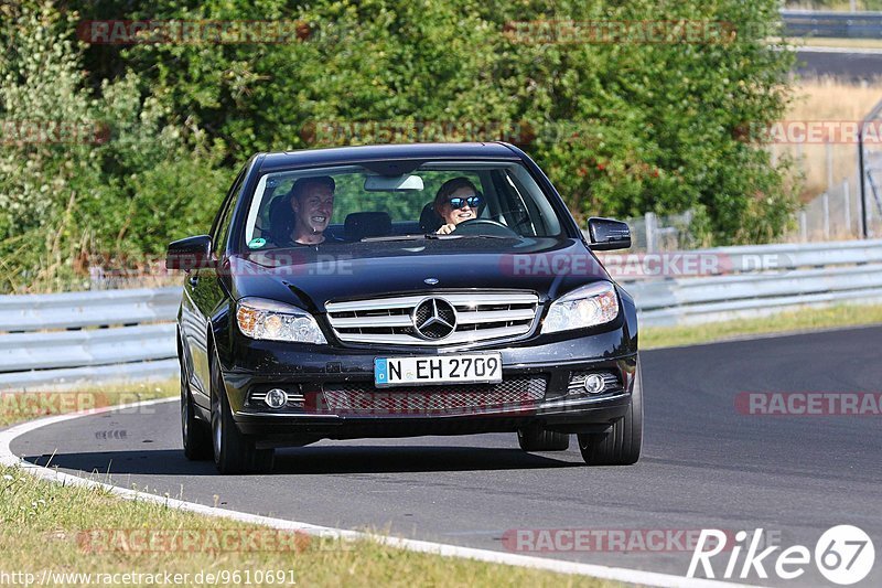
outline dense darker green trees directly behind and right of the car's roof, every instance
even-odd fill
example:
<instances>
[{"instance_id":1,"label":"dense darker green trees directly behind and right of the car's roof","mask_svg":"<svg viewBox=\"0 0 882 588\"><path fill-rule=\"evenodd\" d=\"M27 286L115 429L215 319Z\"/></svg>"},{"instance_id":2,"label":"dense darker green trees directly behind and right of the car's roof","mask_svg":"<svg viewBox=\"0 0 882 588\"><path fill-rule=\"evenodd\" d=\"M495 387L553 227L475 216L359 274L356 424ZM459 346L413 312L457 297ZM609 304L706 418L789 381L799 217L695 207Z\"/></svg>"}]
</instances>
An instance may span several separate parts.
<instances>
[{"instance_id":1,"label":"dense darker green trees directly behind and right of the car's roof","mask_svg":"<svg viewBox=\"0 0 882 588\"><path fill-rule=\"evenodd\" d=\"M173 110L216 129L228 162L259 150L313 147L309 129L327 121L526 125L537 132L523 147L580 220L703 207L707 240L730 244L774 238L795 207L783 181L786 162L773 168L766 151L740 136L745 125L777 119L786 105L793 57L765 43L777 26L776 1L336 0L300 12L281 0L259 10L245 2L178 7L160 2L138 15L287 17L311 30L305 41L282 45L125 52L151 73ZM716 23L738 36L541 44L504 34L514 21L549 20Z\"/></svg>"}]
</instances>

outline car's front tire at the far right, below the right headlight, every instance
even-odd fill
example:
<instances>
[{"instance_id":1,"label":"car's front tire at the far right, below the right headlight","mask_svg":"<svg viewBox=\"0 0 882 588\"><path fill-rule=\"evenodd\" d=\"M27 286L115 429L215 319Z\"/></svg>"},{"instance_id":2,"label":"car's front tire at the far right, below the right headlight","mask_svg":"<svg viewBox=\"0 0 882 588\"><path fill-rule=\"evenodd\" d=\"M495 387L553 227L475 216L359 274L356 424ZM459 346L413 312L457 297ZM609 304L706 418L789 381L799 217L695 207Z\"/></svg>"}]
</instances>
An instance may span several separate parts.
<instances>
[{"instance_id":1,"label":"car's front tire at the far right, below the right headlight","mask_svg":"<svg viewBox=\"0 0 882 588\"><path fill-rule=\"evenodd\" d=\"M643 446L643 377L641 362L634 374L631 406L624 417L603 432L579 434L579 450L589 466L633 466Z\"/></svg>"}]
</instances>

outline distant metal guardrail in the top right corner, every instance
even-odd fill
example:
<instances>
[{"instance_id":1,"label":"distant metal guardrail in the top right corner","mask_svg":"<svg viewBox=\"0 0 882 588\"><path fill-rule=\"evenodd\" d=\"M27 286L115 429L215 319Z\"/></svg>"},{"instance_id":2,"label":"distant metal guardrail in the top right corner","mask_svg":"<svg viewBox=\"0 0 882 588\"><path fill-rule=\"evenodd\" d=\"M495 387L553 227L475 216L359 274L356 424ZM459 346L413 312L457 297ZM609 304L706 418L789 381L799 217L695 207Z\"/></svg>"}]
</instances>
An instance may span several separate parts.
<instances>
[{"instance_id":1,"label":"distant metal guardrail in the top right corner","mask_svg":"<svg viewBox=\"0 0 882 588\"><path fill-rule=\"evenodd\" d=\"M785 36L882 39L882 12L782 10Z\"/></svg>"}]
</instances>

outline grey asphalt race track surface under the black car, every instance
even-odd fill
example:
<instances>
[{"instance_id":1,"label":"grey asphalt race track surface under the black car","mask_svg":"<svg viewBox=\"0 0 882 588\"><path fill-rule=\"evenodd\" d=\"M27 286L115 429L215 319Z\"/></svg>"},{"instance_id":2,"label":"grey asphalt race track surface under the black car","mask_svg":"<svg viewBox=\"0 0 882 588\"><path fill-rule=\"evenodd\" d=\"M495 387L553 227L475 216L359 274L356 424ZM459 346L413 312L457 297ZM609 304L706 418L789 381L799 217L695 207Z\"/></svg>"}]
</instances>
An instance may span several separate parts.
<instances>
[{"instance_id":1,"label":"grey asphalt race track surface under the black car","mask_svg":"<svg viewBox=\"0 0 882 588\"><path fill-rule=\"evenodd\" d=\"M880 342L882 328L868 328L644 352L644 457L627 468L587 468L574 442L527 455L514 435L482 435L322 441L280 450L271 475L222 478L184 459L178 403L45 427L12 449L194 502L217 495L244 512L498 550L512 547L508 530L627 531L632 541L636 530L762 527L814 552L825 530L853 524L878 552L859 586L880 586L881 418L750 416L734 402L740 392L879 392ZM676 575L691 556L676 542L666 553L563 547L520 553ZM774 578L774 560L765 567ZM798 580L746 581L830 586L814 567Z\"/></svg>"}]
</instances>

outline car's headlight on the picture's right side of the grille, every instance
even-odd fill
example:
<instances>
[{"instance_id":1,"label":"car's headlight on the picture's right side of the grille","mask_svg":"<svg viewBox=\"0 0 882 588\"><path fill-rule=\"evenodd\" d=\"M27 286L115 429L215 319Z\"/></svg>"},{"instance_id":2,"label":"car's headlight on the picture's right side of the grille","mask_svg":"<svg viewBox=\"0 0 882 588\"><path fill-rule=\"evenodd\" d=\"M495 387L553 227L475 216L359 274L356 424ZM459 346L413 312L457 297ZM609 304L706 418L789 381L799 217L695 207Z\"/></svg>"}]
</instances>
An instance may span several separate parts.
<instances>
[{"instance_id":1,"label":"car's headlight on the picture's right side of the grille","mask_svg":"<svg viewBox=\"0 0 882 588\"><path fill-rule=\"evenodd\" d=\"M577 288L555 300L542 323L542 333L604 324L619 316L619 297L609 281Z\"/></svg>"}]
</instances>

